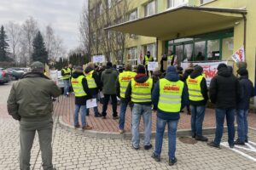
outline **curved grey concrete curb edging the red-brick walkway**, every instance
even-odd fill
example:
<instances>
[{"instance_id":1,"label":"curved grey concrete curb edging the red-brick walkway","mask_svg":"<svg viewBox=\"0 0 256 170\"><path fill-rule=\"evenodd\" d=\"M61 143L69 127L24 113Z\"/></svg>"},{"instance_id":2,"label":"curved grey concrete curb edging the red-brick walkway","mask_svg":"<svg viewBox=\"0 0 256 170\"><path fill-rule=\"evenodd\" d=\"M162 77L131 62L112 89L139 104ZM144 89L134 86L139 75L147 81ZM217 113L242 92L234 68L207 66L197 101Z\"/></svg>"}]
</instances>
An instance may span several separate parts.
<instances>
[{"instance_id":1,"label":"curved grey concrete curb edging the red-brick walkway","mask_svg":"<svg viewBox=\"0 0 256 170\"><path fill-rule=\"evenodd\" d=\"M59 123L61 127L66 128L70 132L83 134L84 136L88 136L88 137L95 137L99 139L131 139L131 132L120 134L120 133L99 132L95 130L82 130L81 128L75 128L72 125L69 125L66 122L63 122L62 116L59 117ZM224 133L225 132L227 132L226 126L224 126ZM215 133L215 127L203 128L204 135L211 135L214 133ZM165 137L167 137L167 135L168 135L167 132L165 132ZM190 136L190 135L191 135L190 129L177 130L177 137ZM140 133L140 137L143 138L143 133ZM155 137L155 132L152 132L152 138L154 137Z\"/></svg>"}]
</instances>

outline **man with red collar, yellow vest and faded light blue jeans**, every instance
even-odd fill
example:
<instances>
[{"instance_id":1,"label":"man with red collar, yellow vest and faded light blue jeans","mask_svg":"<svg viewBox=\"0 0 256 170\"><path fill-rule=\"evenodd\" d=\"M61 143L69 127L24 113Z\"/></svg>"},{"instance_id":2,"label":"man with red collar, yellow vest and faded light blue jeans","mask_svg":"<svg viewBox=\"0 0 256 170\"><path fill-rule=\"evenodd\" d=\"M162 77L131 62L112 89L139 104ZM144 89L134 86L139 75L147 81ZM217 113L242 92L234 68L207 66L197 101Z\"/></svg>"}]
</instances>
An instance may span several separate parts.
<instances>
[{"instance_id":1,"label":"man with red collar, yellow vest and faded light blue jeans","mask_svg":"<svg viewBox=\"0 0 256 170\"><path fill-rule=\"evenodd\" d=\"M152 78L146 75L146 70L143 65L137 66L137 75L131 82L129 82L125 98L134 103L132 108L132 147L135 150L139 149L139 125L141 117L143 116L144 123L144 149L152 148L151 140L151 124L152 124L152 110L151 110L151 94L154 88Z\"/></svg>"}]
</instances>

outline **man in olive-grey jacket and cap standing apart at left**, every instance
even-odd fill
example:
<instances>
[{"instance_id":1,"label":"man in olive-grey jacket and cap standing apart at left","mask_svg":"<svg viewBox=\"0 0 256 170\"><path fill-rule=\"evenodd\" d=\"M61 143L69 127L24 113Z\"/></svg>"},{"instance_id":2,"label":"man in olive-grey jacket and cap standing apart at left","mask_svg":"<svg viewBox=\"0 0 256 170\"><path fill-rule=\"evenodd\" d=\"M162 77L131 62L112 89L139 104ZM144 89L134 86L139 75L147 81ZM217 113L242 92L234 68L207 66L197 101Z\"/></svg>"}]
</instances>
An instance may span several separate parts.
<instances>
[{"instance_id":1,"label":"man in olive-grey jacket and cap standing apart at left","mask_svg":"<svg viewBox=\"0 0 256 170\"><path fill-rule=\"evenodd\" d=\"M20 122L20 169L30 169L33 139L38 131L43 168L53 170L52 97L61 95L61 89L44 76L43 63L34 62L31 69L13 84L8 99L9 115Z\"/></svg>"}]
</instances>

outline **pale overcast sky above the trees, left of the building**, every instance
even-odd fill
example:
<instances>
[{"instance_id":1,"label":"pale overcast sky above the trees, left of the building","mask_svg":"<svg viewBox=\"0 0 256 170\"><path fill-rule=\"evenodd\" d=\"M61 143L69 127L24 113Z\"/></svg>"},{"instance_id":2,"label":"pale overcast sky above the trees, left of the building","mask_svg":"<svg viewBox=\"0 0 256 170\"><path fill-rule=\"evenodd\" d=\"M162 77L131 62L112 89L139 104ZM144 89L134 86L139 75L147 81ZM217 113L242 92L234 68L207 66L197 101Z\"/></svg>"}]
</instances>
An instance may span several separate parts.
<instances>
[{"instance_id":1,"label":"pale overcast sky above the trees, left of the building","mask_svg":"<svg viewBox=\"0 0 256 170\"><path fill-rule=\"evenodd\" d=\"M0 0L0 25L22 24L29 16L41 31L50 25L67 49L79 45L79 15L87 0Z\"/></svg>"}]
</instances>

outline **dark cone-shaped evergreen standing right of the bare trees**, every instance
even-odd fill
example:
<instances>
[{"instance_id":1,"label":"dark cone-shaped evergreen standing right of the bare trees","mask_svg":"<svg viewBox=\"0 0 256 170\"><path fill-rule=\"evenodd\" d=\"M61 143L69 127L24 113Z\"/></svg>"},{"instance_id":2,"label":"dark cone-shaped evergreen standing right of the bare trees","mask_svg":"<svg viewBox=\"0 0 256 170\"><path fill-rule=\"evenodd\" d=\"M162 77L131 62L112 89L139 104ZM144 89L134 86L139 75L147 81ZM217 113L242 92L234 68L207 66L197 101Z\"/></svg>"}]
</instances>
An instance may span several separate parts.
<instances>
[{"instance_id":1,"label":"dark cone-shaped evergreen standing right of the bare trees","mask_svg":"<svg viewBox=\"0 0 256 170\"><path fill-rule=\"evenodd\" d=\"M48 52L44 45L44 39L40 31L33 40L33 53L32 60L40 61L42 63L48 63Z\"/></svg>"}]
</instances>

